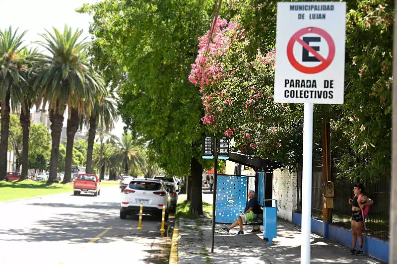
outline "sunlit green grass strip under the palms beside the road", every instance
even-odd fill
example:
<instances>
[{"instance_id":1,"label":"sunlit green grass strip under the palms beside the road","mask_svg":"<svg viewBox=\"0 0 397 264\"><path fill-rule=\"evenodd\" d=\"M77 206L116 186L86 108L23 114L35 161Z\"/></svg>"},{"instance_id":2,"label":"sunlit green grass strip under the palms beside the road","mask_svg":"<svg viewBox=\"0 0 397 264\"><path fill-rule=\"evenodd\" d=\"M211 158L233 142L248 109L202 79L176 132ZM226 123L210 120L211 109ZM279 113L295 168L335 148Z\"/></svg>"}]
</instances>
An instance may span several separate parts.
<instances>
[{"instance_id":1,"label":"sunlit green grass strip under the palms beside the road","mask_svg":"<svg viewBox=\"0 0 397 264\"><path fill-rule=\"evenodd\" d=\"M9 201L21 198L30 198L43 195L53 195L60 193L73 192L73 184L52 184L46 186L47 181L14 181L0 182L0 201ZM119 181L102 181L101 188L107 186L119 185Z\"/></svg>"}]
</instances>

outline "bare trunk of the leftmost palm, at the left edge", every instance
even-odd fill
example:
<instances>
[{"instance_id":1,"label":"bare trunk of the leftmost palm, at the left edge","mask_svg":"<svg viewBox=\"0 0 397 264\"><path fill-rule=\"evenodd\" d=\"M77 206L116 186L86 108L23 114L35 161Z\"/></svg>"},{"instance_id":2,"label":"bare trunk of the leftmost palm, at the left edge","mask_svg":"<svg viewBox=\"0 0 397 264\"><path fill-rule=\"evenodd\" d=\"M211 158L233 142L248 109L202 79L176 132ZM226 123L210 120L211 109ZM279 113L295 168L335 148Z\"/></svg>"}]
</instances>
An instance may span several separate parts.
<instances>
[{"instance_id":1,"label":"bare trunk of the leftmost palm, at the left edge","mask_svg":"<svg viewBox=\"0 0 397 264\"><path fill-rule=\"evenodd\" d=\"M1 104L1 132L0 132L0 181L7 175L7 150L9 132L10 92L5 95L5 102Z\"/></svg>"}]
</instances>

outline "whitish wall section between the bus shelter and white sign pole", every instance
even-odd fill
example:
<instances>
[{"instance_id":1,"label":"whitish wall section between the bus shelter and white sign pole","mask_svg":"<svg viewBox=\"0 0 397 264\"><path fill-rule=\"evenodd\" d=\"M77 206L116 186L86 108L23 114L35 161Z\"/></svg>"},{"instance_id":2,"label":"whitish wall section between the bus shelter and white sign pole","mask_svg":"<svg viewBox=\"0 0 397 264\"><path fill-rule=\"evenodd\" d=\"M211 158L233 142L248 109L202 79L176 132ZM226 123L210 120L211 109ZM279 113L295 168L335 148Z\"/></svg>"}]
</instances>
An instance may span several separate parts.
<instances>
[{"instance_id":1,"label":"whitish wall section between the bus shelter and white sign pole","mask_svg":"<svg viewBox=\"0 0 397 264\"><path fill-rule=\"evenodd\" d=\"M273 199L277 199L277 216L292 222L292 212L297 207L297 172L277 169L273 172Z\"/></svg>"}]
</instances>

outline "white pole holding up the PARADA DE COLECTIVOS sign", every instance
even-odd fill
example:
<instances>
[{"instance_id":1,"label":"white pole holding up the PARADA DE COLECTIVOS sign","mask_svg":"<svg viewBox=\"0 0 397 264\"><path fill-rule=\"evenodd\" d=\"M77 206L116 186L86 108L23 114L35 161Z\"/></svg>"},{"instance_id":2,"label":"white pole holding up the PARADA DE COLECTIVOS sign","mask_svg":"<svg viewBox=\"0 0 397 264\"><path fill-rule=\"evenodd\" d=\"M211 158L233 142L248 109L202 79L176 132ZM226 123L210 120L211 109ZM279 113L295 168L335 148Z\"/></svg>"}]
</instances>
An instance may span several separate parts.
<instances>
[{"instance_id":1,"label":"white pole holding up the PARADA DE COLECTIVOS sign","mask_svg":"<svg viewBox=\"0 0 397 264\"><path fill-rule=\"evenodd\" d=\"M302 246L301 264L310 264L312 218L313 104L303 105Z\"/></svg>"}]
</instances>

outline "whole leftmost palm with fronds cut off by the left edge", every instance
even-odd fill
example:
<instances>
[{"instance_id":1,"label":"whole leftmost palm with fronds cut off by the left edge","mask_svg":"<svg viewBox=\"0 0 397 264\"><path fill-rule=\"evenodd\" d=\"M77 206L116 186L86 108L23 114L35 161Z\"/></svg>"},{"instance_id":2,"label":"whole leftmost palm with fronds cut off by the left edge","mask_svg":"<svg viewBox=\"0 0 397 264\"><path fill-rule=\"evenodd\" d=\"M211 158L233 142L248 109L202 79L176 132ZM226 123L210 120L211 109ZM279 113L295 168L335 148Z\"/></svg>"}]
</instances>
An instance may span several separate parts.
<instances>
[{"instance_id":1,"label":"whole leftmost palm with fronds cut off by the left edge","mask_svg":"<svg viewBox=\"0 0 397 264\"><path fill-rule=\"evenodd\" d=\"M22 38L26 31L17 34L9 27L8 30L0 30L0 102L1 102L1 132L0 132L0 181L5 180L7 173L7 149L9 133L9 114L11 108L18 108L18 101L15 99L15 90L19 89L21 82L24 82L21 72L26 68L23 65L23 56L20 50L23 48Z\"/></svg>"}]
</instances>

